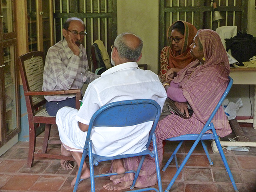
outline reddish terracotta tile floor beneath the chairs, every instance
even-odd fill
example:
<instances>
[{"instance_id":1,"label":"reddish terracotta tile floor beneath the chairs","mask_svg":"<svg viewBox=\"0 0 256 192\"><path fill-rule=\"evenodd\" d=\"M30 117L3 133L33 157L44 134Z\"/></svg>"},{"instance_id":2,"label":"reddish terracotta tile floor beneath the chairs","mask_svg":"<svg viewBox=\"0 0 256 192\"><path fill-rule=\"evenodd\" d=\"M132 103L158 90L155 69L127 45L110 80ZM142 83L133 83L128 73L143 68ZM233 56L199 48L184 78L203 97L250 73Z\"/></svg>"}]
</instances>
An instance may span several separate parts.
<instances>
[{"instance_id":1,"label":"reddish terracotta tile floor beneath the chairs","mask_svg":"<svg viewBox=\"0 0 256 192\"><path fill-rule=\"evenodd\" d=\"M256 141L256 130L252 124L243 124L245 136L250 141ZM42 134L41 134L42 135ZM42 144L42 136L38 136L38 143ZM234 138L234 134L228 137ZM51 139L58 138L56 126L52 127ZM223 138L223 140L227 140ZM163 164L166 163L171 152L177 146L176 142L167 142ZM210 141L207 142L213 166L208 164L201 144L186 163L184 169L172 186L172 192L233 192L234 188L219 154L212 152ZM36 150L40 150L37 145ZM178 159L184 159L192 146L192 142L185 142L178 153ZM52 152L60 153L60 146L49 146ZM226 150L225 150L226 151ZM1 192L70 192L73 188L70 182L74 178L77 166L72 170L63 170L59 160L46 158L35 159L31 169L26 168L28 142L18 142L0 157L0 191ZM225 154L231 172L240 192L256 192L256 148L251 147L249 152L231 151ZM110 168L110 162L101 163L95 168L98 173L104 173ZM172 162L166 172L161 171L163 190L168 186L175 173L175 164ZM104 192L102 185L108 178L96 178L96 191ZM90 180L80 183L78 191L89 192Z\"/></svg>"}]
</instances>

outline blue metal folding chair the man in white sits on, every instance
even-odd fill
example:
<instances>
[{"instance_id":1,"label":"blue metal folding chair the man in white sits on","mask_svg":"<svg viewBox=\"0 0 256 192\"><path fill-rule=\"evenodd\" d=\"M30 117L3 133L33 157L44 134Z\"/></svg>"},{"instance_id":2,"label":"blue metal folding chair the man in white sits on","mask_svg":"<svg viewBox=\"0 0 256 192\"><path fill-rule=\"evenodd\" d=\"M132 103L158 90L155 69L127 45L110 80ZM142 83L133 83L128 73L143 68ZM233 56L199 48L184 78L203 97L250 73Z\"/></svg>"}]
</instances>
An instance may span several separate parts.
<instances>
[{"instance_id":1,"label":"blue metal folding chair the man in white sits on","mask_svg":"<svg viewBox=\"0 0 256 192\"><path fill-rule=\"evenodd\" d=\"M73 192L76 192L79 183L83 180L83 179L80 179L80 176L81 176L82 167L84 164L84 159L87 155L89 156L90 180L91 180L92 192L95 192L94 178L102 177L102 176L111 176L111 175L117 174L117 173L108 173L108 174L94 175L94 165L97 166L98 162L135 157L135 156L142 156L140 164L136 171L130 170L125 172L125 173L132 172L135 174L132 186L130 186L130 189L133 189L146 155L150 155L152 158L155 158L156 173L157 173L157 179L158 179L158 189L149 187L149 188L141 188L133 191L139 192L139 191L155 190L157 192L162 192L160 167L159 167L158 153L157 153L157 147L156 147L156 136L154 134L154 131L156 129L156 124L158 123L158 120L160 117L160 113L161 113L161 107L159 106L159 104L156 101L150 100L150 99L126 100L126 101L120 101L120 102L113 102L103 106L98 111L96 111L90 120L87 137L84 144L82 160L79 166L78 175L76 178L76 184L74 186ZM90 140L90 134L93 127L132 126L132 125L141 124L143 122L149 122L149 121L153 121L154 123L152 125L151 131L149 132L149 138L146 144L146 150L144 150L143 152L136 153L136 154L118 155L118 156L112 156L112 157L99 156L92 153L92 141ZM151 141L153 142L153 146L154 146L153 152L148 150L148 147Z\"/></svg>"}]
</instances>

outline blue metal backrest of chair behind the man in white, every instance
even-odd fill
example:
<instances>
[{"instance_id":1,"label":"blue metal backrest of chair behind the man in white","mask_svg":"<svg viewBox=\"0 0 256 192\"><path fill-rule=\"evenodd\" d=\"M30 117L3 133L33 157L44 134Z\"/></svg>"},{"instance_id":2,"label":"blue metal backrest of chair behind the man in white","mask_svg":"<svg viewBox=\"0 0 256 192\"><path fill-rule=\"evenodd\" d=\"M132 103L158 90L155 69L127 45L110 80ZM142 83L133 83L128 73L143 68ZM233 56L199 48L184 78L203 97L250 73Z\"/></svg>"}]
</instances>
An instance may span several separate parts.
<instances>
[{"instance_id":1,"label":"blue metal backrest of chair behind the man in white","mask_svg":"<svg viewBox=\"0 0 256 192\"><path fill-rule=\"evenodd\" d=\"M151 99L125 100L106 104L92 116L86 142L90 140L92 128L96 126L123 127L154 121L146 144L148 148L160 114L160 105Z\"/></svg>"}]
</instances>

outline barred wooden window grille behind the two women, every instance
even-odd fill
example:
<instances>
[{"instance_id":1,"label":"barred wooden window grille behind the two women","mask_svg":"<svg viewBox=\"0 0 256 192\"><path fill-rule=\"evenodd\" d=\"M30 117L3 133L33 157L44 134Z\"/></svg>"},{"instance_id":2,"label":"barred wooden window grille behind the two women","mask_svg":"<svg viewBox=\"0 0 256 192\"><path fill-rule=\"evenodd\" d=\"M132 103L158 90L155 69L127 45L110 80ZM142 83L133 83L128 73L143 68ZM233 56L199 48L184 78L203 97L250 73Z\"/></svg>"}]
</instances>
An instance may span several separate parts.
<instances>
[{"instance_id":1,"label":"barred wooden window grille behind the two women","mask_svg":"<svg viewBox=\"0 0 256 192\"><path fill-rule=\"evenodd\" d=\"M247 0L218 0L217 8L224 17L220 22L212 22L212 0L160 0L159 15L159 55L168 45L166 32L177 20L193 24L197 29L212 29L220 26L237 26L238 31L247 29Z\"/></svg>"}]
</instances>

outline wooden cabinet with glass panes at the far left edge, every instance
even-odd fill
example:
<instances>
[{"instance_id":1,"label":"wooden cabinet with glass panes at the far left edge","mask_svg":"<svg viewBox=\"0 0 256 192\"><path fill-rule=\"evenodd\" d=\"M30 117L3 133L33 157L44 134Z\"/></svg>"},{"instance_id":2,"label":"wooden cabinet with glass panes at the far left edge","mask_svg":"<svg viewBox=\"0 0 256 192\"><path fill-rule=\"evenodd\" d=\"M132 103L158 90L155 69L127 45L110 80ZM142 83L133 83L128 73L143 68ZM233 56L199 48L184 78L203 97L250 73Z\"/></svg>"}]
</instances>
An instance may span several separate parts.
<instances>
[{"instance_id":1,"label":"wooden cabinet with glass panes at the far left edge","mask_svg":"<svg viewBox=\"0 0 256 192\"><path fill-rule=\"evenodd\" d=\"M0 147L20 131L13 0L0 0Z\"/></svg>"}]
</instances>

